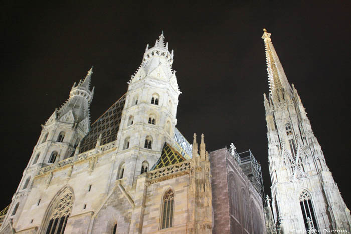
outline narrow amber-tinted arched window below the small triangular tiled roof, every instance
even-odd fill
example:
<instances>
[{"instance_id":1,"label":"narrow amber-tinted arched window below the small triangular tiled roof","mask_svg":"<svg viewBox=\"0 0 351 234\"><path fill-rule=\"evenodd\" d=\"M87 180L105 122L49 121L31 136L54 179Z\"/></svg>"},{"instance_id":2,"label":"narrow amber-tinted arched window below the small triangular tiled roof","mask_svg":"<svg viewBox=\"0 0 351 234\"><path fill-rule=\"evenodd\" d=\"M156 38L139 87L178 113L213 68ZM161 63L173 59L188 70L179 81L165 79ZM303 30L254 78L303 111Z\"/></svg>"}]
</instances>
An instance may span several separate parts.
<instances>
[{"instance_id":1,"label":"narrow amber-tinted arched window below the small triangular tiled roof","mask_svg":"<svg viewBox=\"0 0 351 234\"><path fill-rule=\"evenodd\" d=\"M173 211L174 211L174 192L169 189L163 197L162 204L162 225L161 229L173 226Z\"/></svg>"}]
</instances>

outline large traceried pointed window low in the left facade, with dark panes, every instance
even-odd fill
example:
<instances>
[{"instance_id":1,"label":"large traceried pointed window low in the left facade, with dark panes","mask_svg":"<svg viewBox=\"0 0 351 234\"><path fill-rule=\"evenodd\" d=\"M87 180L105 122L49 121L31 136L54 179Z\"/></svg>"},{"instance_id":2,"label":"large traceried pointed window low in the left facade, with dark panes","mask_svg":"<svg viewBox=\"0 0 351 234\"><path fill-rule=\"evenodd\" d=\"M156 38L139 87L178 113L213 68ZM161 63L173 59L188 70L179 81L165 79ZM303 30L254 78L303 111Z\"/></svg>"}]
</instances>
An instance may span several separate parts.
<instances>
[{"instance_id":1,"label":"large traceried pointed window low in the left facade, with dark panes","mask_svg":"<svg viewBox=\"0 0 351 234\"><path fill-rule=\"evenodd\" d=\"M63 193L49 216L49 223L46 228L46 234L61 234L65 232L67 219L71 214L73 205L73 194L70 190Z\"/></svg>"}]
</instances>

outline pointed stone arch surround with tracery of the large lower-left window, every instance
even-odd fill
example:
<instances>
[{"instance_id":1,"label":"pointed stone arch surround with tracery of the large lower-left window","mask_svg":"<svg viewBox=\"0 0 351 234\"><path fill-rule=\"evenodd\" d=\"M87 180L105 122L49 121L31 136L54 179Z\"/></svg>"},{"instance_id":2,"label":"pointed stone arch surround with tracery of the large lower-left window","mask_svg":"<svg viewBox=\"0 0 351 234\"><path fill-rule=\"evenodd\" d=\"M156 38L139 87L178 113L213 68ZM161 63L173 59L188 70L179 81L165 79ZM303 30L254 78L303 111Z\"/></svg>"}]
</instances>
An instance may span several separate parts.
<instances>
[{"instance_id":1,"label":"pointed stone arch surround with tracery of the large lower-left window","mask_svg":"<svg viewBox=\"0 0 351 234\"><path fill-rule=\"evenodd\" d=\"M61 230L64 230L67 219L72 212L73 203L73 189L70 186L61 188L52 198L49 206L47 207L38 233L45 233L48 227L52 228L55 226L55 222L57 226L62 223Z\"/></svg>"}]
</instances>

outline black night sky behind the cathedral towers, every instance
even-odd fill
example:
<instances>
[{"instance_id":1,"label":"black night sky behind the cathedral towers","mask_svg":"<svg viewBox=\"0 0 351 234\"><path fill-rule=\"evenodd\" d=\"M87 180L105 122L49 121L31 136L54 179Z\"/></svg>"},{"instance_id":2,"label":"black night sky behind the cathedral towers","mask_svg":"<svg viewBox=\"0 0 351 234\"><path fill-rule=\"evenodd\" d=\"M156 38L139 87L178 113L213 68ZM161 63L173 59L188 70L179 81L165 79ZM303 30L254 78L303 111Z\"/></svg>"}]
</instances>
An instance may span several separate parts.
<instances>
[{"instance_id":1,"label":"black night sky behind the cathedral towers","mask_svg":"<svg viewBox=\"0 0 351 234\"><path fill-rule=\"evenodd\" d=\"M351 1L5 2L0 210L11 202L40 125L65 102L73 83L94 65L90 113L95 121L127 91L146 44L153 46L162 30L174 49L173 69L182 91L177 128L190 142L194 132L204 133L208 151L232 142L238 152L251 149L270 195L263 28L272 33L287 78L298 90L326 163L351 208Z\"/></svg>"}]
</instances>

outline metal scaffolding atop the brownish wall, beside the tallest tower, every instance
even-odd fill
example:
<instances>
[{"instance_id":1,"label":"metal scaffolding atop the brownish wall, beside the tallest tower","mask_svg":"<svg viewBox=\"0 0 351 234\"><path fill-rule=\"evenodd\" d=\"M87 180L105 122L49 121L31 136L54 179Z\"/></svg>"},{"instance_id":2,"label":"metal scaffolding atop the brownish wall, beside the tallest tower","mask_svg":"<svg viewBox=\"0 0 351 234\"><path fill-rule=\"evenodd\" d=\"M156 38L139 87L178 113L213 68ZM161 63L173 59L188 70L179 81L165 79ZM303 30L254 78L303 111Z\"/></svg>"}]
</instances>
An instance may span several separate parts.
<instances>
[{"instance_id":1,"label":"metal scaffolding atop the brownish wall, beside the tallest tower","mask_svg":"<svg viewBox=\"0 0 351 234\"><path fill-rule=\"evenodd\" d=\"M254 155L251 153L251 150L238 153L234 145L231 144L229 152L234 157L235 161L237 161L256 191L260 194L262 200L264 200L261 165L256 161Z\"/></svg>"}]
</instances>

